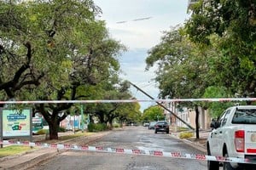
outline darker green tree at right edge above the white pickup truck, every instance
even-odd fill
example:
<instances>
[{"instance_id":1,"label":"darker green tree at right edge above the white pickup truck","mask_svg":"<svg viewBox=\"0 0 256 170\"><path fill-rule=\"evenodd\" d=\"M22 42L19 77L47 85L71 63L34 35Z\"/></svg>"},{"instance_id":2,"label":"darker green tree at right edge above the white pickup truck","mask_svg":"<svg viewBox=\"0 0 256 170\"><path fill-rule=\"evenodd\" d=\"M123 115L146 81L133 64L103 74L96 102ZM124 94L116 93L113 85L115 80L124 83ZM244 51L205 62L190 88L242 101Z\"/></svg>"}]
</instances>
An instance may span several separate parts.
<instances>
[{"instance_id":1,"label":"darker green tree at right edge above the white pickup truck","mask_svg":"<svg viewBox=\"0 0 256 170\"><path fill-rule=\"evenodd\" d=\"M200 1L192 6L191 18L185 23L192 42L209 48L217 43L219 54L212 72L219 75L218 86L231 94L255 95L255 8L255 1Z\"/></svg>"}]
</instances>

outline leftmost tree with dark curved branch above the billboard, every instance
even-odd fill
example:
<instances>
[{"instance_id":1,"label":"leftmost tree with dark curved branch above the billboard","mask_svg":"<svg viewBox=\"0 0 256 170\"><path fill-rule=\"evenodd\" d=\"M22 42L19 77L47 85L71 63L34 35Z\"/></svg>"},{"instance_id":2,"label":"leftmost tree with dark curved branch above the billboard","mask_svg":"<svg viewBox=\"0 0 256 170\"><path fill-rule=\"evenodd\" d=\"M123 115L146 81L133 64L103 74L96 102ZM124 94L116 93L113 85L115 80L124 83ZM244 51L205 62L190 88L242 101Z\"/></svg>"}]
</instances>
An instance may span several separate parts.
<instances>
[{"instance_id":1,"label":"leftmost tree with dark curved branch above the billboard","mask_svg":"<svg viewBox=\"0 0 256 170\"><path fill-rule=\"evenodd\" d=\"M44 71L35 67L36 57L32 42L25 37L23 16L25 7L20 4L0 2L0 97L15 99L22 89L30 91L39 85ZM24 41L24 39L26 39ZM3 105L0 105L3 106Z\"/></svg>"}]
</instances>

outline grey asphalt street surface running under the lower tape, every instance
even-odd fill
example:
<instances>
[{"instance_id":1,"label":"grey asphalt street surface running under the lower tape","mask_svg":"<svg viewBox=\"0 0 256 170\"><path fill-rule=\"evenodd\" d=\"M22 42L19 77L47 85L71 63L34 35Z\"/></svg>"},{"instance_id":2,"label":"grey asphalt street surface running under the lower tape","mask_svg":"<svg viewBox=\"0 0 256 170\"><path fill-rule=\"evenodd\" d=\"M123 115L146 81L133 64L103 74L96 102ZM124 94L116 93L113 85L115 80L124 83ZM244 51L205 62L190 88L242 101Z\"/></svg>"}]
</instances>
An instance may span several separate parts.
<instances>
[{"instance_id":1,"label":"grey asphalt street surface running under the lower tape","mask_svg":"<svg viewBox=\"0 0 256 170\"><path fill-rule=\"evenodd\" d=\"M83 144L83 141L76 141ZM122 149L161 150L203 154L200 150L172 138L166 133L154 133L148 127L125 127L114 130L91 146L102 146ZM161 156L138 156L117 153L103 153L82 150L67 150L49 161L36 167L48 169L89 169L89 170L200 170L207 169L207 161L195 161Z\"/></svg>"}]
</instances>

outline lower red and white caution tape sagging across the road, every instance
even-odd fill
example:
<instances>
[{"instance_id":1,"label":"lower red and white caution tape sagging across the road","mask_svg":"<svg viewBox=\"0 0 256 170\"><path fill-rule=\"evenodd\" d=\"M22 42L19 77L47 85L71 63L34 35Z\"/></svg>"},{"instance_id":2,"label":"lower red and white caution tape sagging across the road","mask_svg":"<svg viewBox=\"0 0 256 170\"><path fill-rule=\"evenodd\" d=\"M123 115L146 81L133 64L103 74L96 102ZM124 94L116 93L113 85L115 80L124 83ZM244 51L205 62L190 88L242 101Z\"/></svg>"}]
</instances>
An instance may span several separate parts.
<instances>
[{"instance_id":1,"label":"lower red and white caution tape sagging across the road","mask_svg":"<svg viewBox=\"0 0 256 170\"><path fill-rule=\"evenodd\" d=\"M55 148L59 150L65 150L65 149L66 150L84 150L84 151L108 152L108 153L142 155L142 156L162 156L162 157L192 159L192 160L198 160L198 161L221 161L221 162L226 161L226 162L256 164L256 161L245 159L245 158L207 156L202 154L165 152L160 150L137 150L137 149L131 150L131 149L123 149L123 148L109 148L109 147L102 147L102 146L88 146L88 145L76 145L76 144L47 144L47 143L29 142L29 141L20 142L20 141L13 141L13 140L3 140L3 141L0 141L0 144Z\"/></svg>"}]
</instances>

